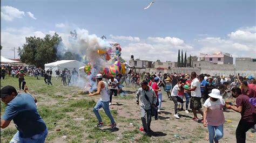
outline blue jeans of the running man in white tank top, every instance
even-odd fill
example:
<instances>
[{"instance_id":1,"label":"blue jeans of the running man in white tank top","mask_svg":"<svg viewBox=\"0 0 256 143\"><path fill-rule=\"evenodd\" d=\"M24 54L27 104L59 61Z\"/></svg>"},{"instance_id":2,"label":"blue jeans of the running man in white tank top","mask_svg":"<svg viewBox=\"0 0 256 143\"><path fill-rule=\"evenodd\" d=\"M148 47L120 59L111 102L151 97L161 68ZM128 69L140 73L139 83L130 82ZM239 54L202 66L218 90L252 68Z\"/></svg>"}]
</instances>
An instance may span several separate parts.
<instances>
[{"instance_id":1,"label":"blue jeans of the running man in white tank top","mask_svg":"<svg viewBox=\"0 0 256 143\"><path fill-rule=\"evenodd\" d=\"M115 123L114 118L112 117L111 112L109 110L109 101L103 102L99 99L99 101L96 103L95 107L93 108L93 112L95 113L95 116L97 117L99 123L102 122L102 117L100 117L100 115L99 115L100 108L104 109L104 111L105 111L107 117L109 117L111 123L112 124Z\"/></svg>"}]
</instances>

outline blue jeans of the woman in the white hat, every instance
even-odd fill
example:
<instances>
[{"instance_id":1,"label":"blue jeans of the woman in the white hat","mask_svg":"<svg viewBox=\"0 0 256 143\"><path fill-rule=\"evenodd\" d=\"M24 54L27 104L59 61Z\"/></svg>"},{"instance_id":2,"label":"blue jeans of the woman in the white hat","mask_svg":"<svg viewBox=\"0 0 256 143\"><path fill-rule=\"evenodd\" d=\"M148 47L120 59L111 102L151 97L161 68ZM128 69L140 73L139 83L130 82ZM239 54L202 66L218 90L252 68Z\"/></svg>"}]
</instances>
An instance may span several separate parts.
<instances>
[{"instance_id":1,"label":"blue jeans of the woman in the white hat","mask_svg":"<svg viewBox=\"0 0 256 143\"><path fill-rule=\"evenodd\" d=\"M223 137L223 125L219 125L219 126L208 125L207 127L208 127L208 131L209 131L209 142L210 143L213 143L213 140L218 141ZM216 132L216 135L215 135L215 132Z\"/></svg>"}]
</instances>

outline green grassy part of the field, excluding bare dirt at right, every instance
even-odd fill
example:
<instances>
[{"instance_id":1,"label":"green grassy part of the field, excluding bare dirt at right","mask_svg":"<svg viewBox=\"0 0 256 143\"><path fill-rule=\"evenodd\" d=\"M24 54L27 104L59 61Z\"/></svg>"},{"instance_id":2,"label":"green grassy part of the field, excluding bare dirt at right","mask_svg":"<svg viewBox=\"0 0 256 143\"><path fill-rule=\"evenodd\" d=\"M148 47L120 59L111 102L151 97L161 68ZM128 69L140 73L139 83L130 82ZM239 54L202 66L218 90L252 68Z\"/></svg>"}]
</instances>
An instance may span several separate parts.
<instances>
[{"instance_id":1,"label":"green grassy part of the field, excluding bare dirt at right","mask_svg":"<svg viewBox=\"0 0 256 143\"><path fill-rule=\"evenodd\" d=\"M94 98L86 95L79 95L78 88L65 87L60 81L52 79L53 85L44 83L43 78L36 80L35 77L25 77L26 85L31 94L35 95L38 100L38 111L44 119L49 134L46 138L49 142L55 142L58 138L62 138L68 142L83 142L83 141L113 141L117 138L117 134L112 133L107 127L110 124L109 118L104 111L100 110L100 115L106 121L105 130L96 128L97 118L92 112L93 106L96 104ZM5 85L12 85L18 89L18 79L6 77L1 81L2 87ZM23 91L18 91L23 92ZM99 98L99 97L97 97ZM119 96L118 99L131 99L133 96ZM1 112L4 111L4 103L1 102ZM111 110L111 113L118 120L117 110ZM75 118L84 118L84 120L74 120ZM130 123L129 119L120 118L120 121ZM60 131L56 131L60 129ZM17 132L14 125L1 132L1 142L9 142L12 136ZM138 130L128 131L122 133L122 141L130 141L134 134L140 133ZM65 137L65 138L64 138ZM141 138L140 140L149 140Z\"/></svg>"}]
</instances>

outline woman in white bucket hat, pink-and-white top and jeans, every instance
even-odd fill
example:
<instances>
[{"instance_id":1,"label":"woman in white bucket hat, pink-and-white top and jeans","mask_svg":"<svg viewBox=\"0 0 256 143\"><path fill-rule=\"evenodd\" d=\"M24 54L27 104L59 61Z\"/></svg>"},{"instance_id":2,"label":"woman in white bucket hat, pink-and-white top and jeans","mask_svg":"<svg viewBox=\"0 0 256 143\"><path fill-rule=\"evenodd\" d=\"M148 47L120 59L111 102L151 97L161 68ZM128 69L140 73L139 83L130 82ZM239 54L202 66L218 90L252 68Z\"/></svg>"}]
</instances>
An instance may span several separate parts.
<instances>
[{"instance_id":1,"label":"woman in white bucket hat, pink-and-white top and jeans","mask_svg":"<svg viewBox=\"0 0 256 143\"><path fill-rule=\"evenodd\" d=\"M225 122L223 106L225 101L218 89L212 89L209 98L204 103L204 127L208 126L209 142L219 142L223 137L223 124Z\"/></svg>"}]
</instances>

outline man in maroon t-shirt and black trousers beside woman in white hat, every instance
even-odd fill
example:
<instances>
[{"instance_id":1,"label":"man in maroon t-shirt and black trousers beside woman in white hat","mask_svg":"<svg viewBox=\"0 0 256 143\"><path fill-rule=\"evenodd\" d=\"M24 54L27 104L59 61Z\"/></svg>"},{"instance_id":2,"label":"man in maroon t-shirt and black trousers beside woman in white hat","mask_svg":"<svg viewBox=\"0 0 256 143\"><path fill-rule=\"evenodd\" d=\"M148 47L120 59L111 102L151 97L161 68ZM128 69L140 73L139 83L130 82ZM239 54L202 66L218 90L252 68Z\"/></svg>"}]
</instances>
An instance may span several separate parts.
<instances>
[{"instance_id":1,"label":"man in maroon t-shirt and black trousers beside woman in white hat","mask_svg":"<svg viewBox=\"0 0 256 143\"><path fill-rule=\"evenodd\" d=\"M237 142L245 142L246 132L256 123L255 108L250 104L250 98L242 95L240 88L233 88L231 91L232 96L237 98L237 106L226 105L226 108L241 113L241 119L235 131L235 137L237 138Z\"/></svg>"}]
</instances>

